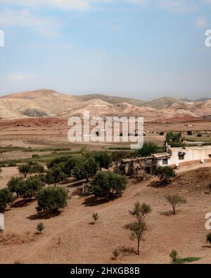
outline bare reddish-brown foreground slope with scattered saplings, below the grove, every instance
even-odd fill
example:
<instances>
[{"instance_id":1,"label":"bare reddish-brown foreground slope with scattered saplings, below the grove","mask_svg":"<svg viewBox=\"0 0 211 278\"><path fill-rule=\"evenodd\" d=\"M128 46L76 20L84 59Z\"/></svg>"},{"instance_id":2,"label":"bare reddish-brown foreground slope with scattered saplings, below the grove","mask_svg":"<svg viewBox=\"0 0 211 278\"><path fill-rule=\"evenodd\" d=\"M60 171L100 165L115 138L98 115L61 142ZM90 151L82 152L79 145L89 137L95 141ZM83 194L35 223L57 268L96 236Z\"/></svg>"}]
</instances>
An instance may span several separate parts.
<instances>
[{"instance_id":1,"label":"bare reddish-brown foreground slope with scattered saplings, below the grove","mask_svg":"<svg viewBox=\"0 0 211 278\"><path fill-rule=\"evenodd\" d=\"M205 214L211 209L210 195L206 194L211 163L182 168L177 174L172 185L165 188L155 187L155 177L145 182L131 179L123 196L108 203L74 196L60 215L46 219L37 215L35 201L14 205L5 213L4 234L15 234L11 244L0 244L0 263L112 263L114 248L121 251L117 263L170 263L172 248L181 257L196 256L202 258L198 263L211 263L211 249L205 242ZM4 171L4 182L7 175ZM168 193L187 199L177 215L169 213L170 206L164 199ZM153 208L147 217L148 232L141 242L140 256L132 252L136 244L124 228L132 222L128 210L135 201L150 203ZM100 219L90 225L94 212ZM40 221L46 229L37 236L34 232Z\"/></svg>"}]
</instances>

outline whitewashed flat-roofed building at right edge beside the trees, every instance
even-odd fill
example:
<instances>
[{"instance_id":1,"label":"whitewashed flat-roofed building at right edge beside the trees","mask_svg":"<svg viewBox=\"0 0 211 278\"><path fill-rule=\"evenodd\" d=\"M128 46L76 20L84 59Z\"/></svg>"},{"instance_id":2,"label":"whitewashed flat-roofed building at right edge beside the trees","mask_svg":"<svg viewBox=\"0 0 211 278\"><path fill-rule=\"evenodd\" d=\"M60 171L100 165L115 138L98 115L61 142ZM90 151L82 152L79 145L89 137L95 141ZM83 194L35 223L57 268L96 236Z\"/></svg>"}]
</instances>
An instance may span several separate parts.
<instances>
[{"instance_id":1,"label":"whitewashed flat-roofed building at right edge beside the trees","mask_svg":"<svg viewBox=\"0 0 211 278\"><path fill-rule=\"evenodd\" d=\"M188 162L211 161L211 146L188 146L184 148L168 147L166 153L155 153L153 157L157 159L158 165L177 165Z\"/></svg>"}]
</instances>

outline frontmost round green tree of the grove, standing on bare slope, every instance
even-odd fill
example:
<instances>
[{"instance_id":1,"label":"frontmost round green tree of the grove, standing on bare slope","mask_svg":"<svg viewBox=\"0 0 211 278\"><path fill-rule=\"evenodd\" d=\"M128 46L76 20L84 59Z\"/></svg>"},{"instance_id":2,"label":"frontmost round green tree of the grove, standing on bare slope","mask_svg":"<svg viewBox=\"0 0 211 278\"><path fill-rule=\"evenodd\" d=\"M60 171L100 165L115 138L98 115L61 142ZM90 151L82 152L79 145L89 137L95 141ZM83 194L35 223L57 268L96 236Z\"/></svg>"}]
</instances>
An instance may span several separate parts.
<instances>
[{"instance_id":1,"label":"frontmost round green tree of the grove, standing on bare slope","mask_svg":"<svg viewBox=\"0 0 211 278\"><path fill-rule=\"evenodd\" d=\"M37 193L37 211L57 213L68 205L68 193L63 188L47 187Z\"/></svg>"}]
</instances>

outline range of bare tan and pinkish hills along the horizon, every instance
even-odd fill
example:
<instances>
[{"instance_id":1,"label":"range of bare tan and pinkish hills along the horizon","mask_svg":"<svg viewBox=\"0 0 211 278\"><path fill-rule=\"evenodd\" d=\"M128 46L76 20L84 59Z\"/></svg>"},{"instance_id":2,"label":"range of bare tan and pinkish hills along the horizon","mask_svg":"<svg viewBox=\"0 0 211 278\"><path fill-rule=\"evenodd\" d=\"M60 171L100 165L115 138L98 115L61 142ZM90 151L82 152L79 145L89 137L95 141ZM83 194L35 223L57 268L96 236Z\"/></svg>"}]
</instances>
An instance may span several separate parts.
<instances>
[{"instance_id":1,"label":"range of bare tan and pinkish hills along the horizon","mask_svg":"<svg viewBox=\"0 0 211 278\"><path fill-rule=\"evenodd\" d=\"M153 101L87 94L69 96L51 89L25 91L0 97L0 118L70 118L84 110L102 117L143 116L147 122L199 120L211 115L211 99L189 101L162 97Z\"/></svg>"}]
</instances>

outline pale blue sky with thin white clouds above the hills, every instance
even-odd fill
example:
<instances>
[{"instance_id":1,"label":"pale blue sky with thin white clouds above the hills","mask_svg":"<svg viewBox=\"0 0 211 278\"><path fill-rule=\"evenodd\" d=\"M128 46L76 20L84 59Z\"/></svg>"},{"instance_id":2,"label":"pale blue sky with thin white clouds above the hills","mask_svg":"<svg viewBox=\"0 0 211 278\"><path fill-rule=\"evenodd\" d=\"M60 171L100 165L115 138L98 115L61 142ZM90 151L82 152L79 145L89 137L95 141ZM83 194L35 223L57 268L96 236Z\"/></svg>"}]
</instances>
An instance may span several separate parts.
<instances>
[{"instance_id":1,"label":"pale blue sky with thin white clouds above the hills","mask_svg":"<svg viewBox=\"0 0 211 278\"><path fill-rule=\"evenodd\" d=\"M0 0L0 95L211 96L211 0Z\"/></svg>"}]
</instances>

